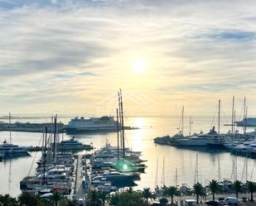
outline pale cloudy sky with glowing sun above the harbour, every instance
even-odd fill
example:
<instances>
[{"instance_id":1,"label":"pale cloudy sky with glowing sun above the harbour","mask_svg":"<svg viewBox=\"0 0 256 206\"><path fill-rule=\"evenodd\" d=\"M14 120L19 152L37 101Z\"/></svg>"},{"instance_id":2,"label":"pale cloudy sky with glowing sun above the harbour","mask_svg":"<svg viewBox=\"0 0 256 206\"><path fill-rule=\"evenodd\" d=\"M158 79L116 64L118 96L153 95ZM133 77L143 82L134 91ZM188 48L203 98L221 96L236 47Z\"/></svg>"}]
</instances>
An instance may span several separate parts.
<instances>
[{"instance_id":1,"label":"pale cloudy sky with glowing sun above the harbour","mask_svg":"<svg viewBox=\"0 0 256 206\"><path fill-rule=\"evenodd\" d=\"M0 0L0 114L256 116L254 0ZM141 68L143 67L143 68Z\"/></svg>"}]
</instances>

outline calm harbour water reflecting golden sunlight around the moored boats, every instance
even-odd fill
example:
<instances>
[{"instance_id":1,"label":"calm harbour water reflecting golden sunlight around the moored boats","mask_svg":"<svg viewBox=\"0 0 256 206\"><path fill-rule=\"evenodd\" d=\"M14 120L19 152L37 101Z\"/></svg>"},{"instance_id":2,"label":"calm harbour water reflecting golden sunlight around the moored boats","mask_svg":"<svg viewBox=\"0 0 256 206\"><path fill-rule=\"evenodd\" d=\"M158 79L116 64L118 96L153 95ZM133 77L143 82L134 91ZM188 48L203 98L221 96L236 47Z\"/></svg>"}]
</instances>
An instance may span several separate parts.
<instances>
[{"instance_id":1,"label":"calm harbour water reflecting golden sunlight around the moored boats","mask_svg":"<svg viewBox=\"0 0 256 206\"><path fill-rule=\"evenodd\" d=\"M63 119L66 122L66 119ZM188 121L186 121L188 122ZM185 125L186 125L185 122ZM192 132L199 132L203 130L208 132L212 119L198 118L194 119L192 125ZM178 184L193 184L196 169L196 153L198 153L199 165L199 180L205 184L206 180L224 180L234 178L234 161L235 157L229 152L220 151L216 149L200 149L189 150L181 149L173 146L156 146L152 139L157 136L166 134L175 134L176 127L179 125L179 118L169 117L131 117L125 119L125 124L140 127L139 130L126 131L126 144L132 147L134 151L142 151L142 159L147 160L146 173L141 175L141 180L137 182L138 189L143 187L154 188L154 185L162 184L162 165L163 158L165 158L164 179L166 185L174 184L175 174L177 170ZM229 128L223 127L225 132ZM188 126L185 127L185 132L188 133ZM8 132L0 132L0 140L9 138ZM65 139L70 136L65 135ZM88 134L77 136L77 139L84 143L93 142L96 148L104 146L108 140L111 145L116 145L116 134ZM38 146L41 139L41 133L27 133L27 132L12 132L12 142L21 146ZM37 154L37 155L36 155ZM36 155L36 156L35 156ZM29 173L31 169L34 171L33 159L40 158L37 152L31 152L30 156L14 158L12 160L3 160L0 162L0 194L20 194L19 182L24 176ZM158 159L158 177L157 172ZM237 157L238 162L238 179L245 180L244 171L244 157ZM256 171L256 170L255 170ZM256 180L256 172L254 172L254 160L248 160L248 179Z\"/></svg>"}]
</instances>

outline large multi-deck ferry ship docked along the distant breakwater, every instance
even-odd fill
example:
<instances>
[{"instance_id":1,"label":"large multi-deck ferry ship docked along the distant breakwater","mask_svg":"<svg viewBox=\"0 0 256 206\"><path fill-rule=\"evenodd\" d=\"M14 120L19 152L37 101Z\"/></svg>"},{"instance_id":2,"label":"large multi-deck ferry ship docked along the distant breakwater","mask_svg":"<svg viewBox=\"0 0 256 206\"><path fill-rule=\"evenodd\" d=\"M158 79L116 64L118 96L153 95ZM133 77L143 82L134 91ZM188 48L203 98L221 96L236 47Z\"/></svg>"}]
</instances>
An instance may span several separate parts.
<instances>
[{"instance_id":1,"label":"large multi-deck ferry ship docked along the distant breakwater","mask_svg":"<svg viewBox=\"0 0 256 206\"><path fill-rule=\"evenodd\" d=\"M65 126L67 134L84 133L84 132L114 132L117 130L118 122L114 117L75 117ZM119 128L120 125L119 125Z\"/></svg>"}]
</instances>

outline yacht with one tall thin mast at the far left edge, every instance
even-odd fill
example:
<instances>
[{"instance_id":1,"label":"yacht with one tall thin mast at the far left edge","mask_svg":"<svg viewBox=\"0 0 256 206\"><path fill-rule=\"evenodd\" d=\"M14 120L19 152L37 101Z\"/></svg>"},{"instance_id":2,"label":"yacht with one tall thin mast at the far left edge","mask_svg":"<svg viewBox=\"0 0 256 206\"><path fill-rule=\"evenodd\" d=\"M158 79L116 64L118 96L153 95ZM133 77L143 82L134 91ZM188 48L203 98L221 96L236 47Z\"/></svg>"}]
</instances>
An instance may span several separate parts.
<instances>
[{"instance_id":1,"label":"yacht with one tall thin mast at the far left edge","mask_svg":"<svg viewBox=\"0 0 256 206\"><path fill-rule=\"evenodd\" d=\"M15 155L15 154L27 154L29 146L17 146L12 144L12 129L11 129L11 113L9 113L9 132L10 132L10 141L6 140L0 143L0 155Z\"/></svg>"}]
</instances>

